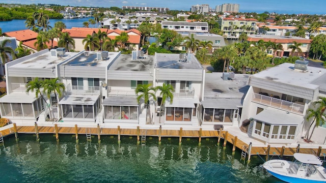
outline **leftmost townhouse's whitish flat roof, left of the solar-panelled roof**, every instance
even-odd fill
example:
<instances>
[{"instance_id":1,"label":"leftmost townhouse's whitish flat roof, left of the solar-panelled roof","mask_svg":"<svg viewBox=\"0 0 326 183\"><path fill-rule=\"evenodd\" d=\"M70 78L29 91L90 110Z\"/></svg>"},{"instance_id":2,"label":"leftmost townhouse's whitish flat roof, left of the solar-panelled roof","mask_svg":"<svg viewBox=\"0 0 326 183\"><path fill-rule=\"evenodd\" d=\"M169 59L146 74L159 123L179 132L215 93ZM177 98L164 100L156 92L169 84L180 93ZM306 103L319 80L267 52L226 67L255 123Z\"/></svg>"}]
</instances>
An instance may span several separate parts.
<instances>
[{"instance_id":1,"label":"leftmost townhouse's whitish flat roof, left of the solar-panelled roof","mask_svg":"<svg viewBox=\"0 0 326 183\"><path fill-rule=\"evenodd\" d=\"M34 53L35 54L35 53ZM33 69L55 69L56 65L66 61L67 59L77 55L76 52L66 52L64 56L57 57L57 56L51 56L50 51L46 51L41 55L33 57L33 54L31 56L25 57L25 60L22 62L9 66L11 68L33 68ZM22 57L21 59L24 59Z\"/></svg>"}]
</instances>

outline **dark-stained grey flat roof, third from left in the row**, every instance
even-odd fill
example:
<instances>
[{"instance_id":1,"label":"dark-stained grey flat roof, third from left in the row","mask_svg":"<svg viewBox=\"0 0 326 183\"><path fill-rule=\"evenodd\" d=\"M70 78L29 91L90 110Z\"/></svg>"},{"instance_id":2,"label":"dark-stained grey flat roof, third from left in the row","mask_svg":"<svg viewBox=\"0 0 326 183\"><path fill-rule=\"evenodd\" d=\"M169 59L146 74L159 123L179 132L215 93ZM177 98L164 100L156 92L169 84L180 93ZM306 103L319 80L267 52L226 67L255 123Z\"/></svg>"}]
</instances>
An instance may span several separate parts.
<instances>
[{"instance_id":1,"label":"dark-stained grey flat roof, third from left in the row","mask_svg":"<svg viewBox=\"0 0 326 183\"><path fill-rule=\"evenodd\" d=\"M132 60L131 54L120 54L109 68L110 71L153 71L154 55Z\"/></svg>"}]
</instances>

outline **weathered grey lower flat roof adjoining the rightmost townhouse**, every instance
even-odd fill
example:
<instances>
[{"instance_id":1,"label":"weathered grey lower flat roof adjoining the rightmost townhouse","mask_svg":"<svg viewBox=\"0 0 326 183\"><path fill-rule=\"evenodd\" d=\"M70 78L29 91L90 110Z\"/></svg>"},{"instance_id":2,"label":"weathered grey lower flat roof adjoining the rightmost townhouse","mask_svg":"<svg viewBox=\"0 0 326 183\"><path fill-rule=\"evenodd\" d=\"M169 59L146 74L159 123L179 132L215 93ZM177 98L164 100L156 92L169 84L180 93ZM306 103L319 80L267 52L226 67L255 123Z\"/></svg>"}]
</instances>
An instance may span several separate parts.
<instances>
[{"instance_id":1,"label":"weathered grey lower flat roof adjoining the rightmost townhouse","mask_svg":"<svg viewBox=\"0 0 326 183\"><path fill-rule=\"evenodd\" d=\"M235 74L232 80L223 80L222 72L205 73L204 98L244 98L249 85L249 74ZM204 99L205 100L205 99Z\"/></svg>"}]
</instances>

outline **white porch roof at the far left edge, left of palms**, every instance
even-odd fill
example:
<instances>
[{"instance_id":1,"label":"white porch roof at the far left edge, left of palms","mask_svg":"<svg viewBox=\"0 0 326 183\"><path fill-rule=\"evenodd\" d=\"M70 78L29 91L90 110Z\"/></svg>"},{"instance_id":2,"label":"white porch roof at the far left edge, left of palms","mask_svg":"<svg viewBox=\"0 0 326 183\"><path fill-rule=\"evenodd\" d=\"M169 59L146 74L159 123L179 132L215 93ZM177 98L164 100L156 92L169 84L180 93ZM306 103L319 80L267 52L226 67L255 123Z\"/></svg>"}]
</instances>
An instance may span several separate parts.
<instances>
[{"instance_id":1,"label":"white porch roof at the far left edge, left of palms","mask_svg":"<svg viewBox=\"0 0 326 183\"><path fill-rule=\"evenodd\" d=\"M0 102L2 103L23 103L23 104L32 104L36 101L35 93L25 93L25 92L14 92L9 95L5 95L0 98Z\"/></svg>"}]
</instances>

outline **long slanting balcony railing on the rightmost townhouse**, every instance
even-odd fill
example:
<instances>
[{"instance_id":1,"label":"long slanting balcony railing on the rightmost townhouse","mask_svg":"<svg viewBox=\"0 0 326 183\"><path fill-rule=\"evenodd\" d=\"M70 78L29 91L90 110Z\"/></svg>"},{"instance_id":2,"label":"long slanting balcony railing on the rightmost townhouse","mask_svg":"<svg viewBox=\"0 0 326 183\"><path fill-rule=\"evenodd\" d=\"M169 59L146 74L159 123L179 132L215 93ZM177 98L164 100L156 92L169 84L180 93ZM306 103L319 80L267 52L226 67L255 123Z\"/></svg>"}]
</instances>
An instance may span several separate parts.
<instances>
[{"instance_id":1,"label":"long slanting balcony railing on the rightmost townhouse","mask_svg":"<svg viewBox=\"0 0 326 183\"><path fill-rule=\"evenodd\" d=\"M302 104L296 104L293 102L289 102L289 101L285 101L285 100L281 100L281 99L277 99L261 94L256 94L256 93L253 94L252 101L265 104L268 106L273 106L279 109L284 109L287 111L299 113L299 114L303 114L305 108L305 105Z\"/></svg>"}]
</instances>

